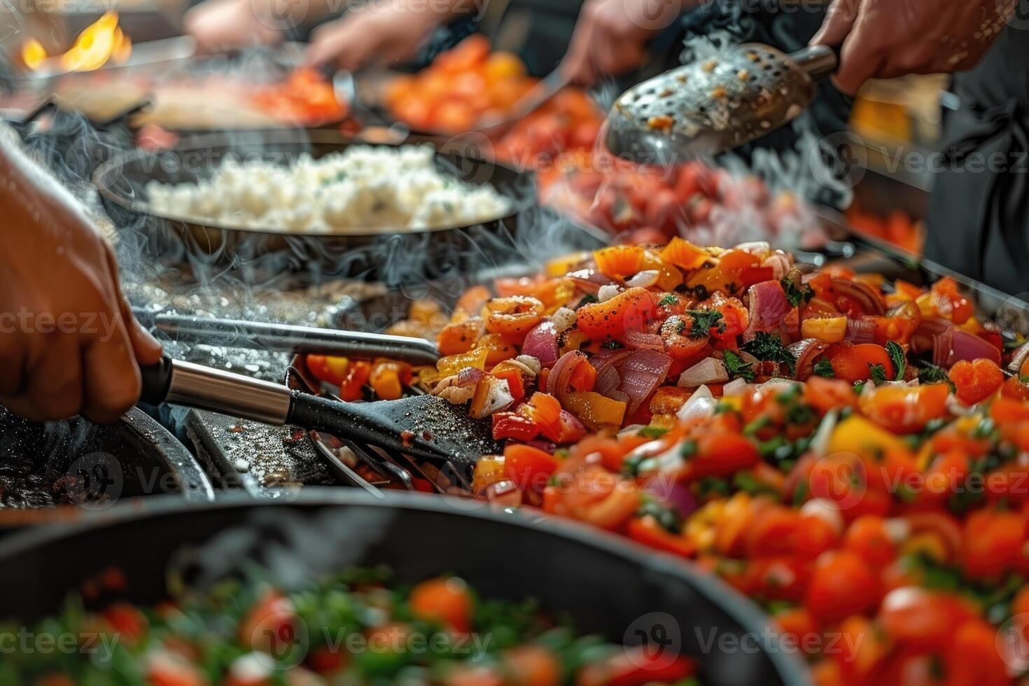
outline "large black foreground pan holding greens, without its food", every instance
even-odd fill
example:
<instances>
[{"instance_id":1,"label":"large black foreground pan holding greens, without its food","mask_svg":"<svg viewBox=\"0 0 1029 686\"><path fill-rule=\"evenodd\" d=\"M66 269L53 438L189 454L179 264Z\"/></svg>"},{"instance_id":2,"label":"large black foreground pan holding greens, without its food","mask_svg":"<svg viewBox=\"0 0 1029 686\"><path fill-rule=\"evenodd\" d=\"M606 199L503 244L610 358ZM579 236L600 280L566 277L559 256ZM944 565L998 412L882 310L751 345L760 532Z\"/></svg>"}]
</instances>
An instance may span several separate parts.
<instances>
[{"instance_id":1,"label":"large black foreground pan holding greens, without its food","mask_svg":"<svg viewBox=\"0 0 1029 686\"><path fill-rule=\"evenodd\" d=\"M0 597L0 617L52 612L110 566L125 572L129 600L152 603L167 593L169 568L204 588L255 562L287 585L351 565L388 565L400 582L456 572L485 598L532 597L566 611L582 631L680 648L700 661L708 686L810 683L797 656L770 639L767 617L681 561L569 522L343 490L306 490L278 505L151 499L26 532L0 542L0 587L17 589Z\"/></svg>"}]
</instances>

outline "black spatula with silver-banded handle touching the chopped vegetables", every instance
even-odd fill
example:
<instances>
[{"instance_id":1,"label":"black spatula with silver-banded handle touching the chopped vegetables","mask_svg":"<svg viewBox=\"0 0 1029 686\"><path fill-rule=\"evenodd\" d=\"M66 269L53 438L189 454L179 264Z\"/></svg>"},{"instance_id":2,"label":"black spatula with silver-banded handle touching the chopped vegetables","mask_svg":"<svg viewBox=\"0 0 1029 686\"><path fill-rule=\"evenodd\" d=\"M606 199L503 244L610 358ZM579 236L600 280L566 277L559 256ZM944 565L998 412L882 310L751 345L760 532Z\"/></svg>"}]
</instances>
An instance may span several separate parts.
<instances>
[{"instance_id":1,"label":"black spatula with silver-banded handle touching the chopped vegetables","mask_svg":"<svg viewBox=\"0 0 1029 686\"><path fill-rule=\"evenodd\" d=\"M488 423L432 395L341 402L285 386L165 356L142 369L141 399L304 429L467 467L498 450Z\"/></svg>"}]
</instances>

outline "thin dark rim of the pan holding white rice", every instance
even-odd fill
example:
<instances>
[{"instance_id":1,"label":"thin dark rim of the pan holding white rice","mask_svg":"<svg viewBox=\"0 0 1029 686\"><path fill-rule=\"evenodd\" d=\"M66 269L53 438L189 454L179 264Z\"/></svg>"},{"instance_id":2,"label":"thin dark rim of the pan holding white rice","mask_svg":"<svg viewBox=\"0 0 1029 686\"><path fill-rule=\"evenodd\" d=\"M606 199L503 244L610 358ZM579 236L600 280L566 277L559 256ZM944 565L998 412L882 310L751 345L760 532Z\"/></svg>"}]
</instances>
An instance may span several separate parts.
<instances>
[{"instance_id":1,"label":"thin dark rim of the pan holding white rice","mask_svg":"<svg viewBox=\"0 0 1029 686\"><path fill-rule=\"evenodd\" d=\"M485 159L474 159L470 157L464 157L475 164L490 165L492 167L503 170L505 173L510 174L511 178L516 180L527 180L533 184L532 191L527 192L525 197L511 197L510 195L505 195L509 201L511 201L512 207L511 211L500 217L493 217L491 219L486 219L476 224L464 224L456 226L438 226L433 228L417 228L410 230L380 230L370 231L368 229L361 229L359 231L339 231L339 232L312 232L312 231L288 231L288 230L276 230L270 228L249 228L245 226L230 226L225 224L217 224L205 221L203 223L197 222L192 219L185 217L172 217L167 215L154 214L149 211L149 208L145 203L139 201L134 201L126 197L121 193L115 192L111 188L111 183L108 177L116 174L119 170L123 169L126 166L144 159L147 157L157 156L167 153L185 153L191 150L198 150L202 147L226 147L230 145L230 139L233 136L242 135L260 135L263 138L279 140L265 140L264 143L268 145L288 145L288 144L300 144L300 143L321 143L321 144L339 144L341 149L349 147L350 145L369 145L379 147L398 147L397 145L389 143L367 143L364 141L357 140L353 137L348 137L338 132L331 130L304 130L304 129L248 129L232 132L212 132L211 134L204 134L194 137L188 137L179 141L179 144L169 148L167 150L144 150L142 148L135 148L127 152L120 152L115 154L111 159L100 165L93 174L93 185L97 188L97 192L100 196L108 203L116 205L125 210L134 212L138 215L148 217L153 220L164 221L168 223L180 223L202 227L206 230L213 231L227 231L233 233L238 233L241 236L263 236L263 237L285 237L285 238L295 238L301 240L375 240L375 239L389 239L394 236L426 236L443 233L447 231L460 231L467 230L474 226L499 226L506 225L514 222L519 215L521 215L526 210L535 206L535 181L531 179L524 171L516 170L511 167L501 165L495 161L485 160ZM322 140L330 139L330 140ZM439 146L432 141L405 141L401 145L411 144L427 144L432 145L436 150L436 153L450 154L457 157L462 157L462 155L457 155L456 153L440 151ZM499 191L498 191L499 192ZM503 193L501 193L503 194Z\"/></svg>"}]
</instances>

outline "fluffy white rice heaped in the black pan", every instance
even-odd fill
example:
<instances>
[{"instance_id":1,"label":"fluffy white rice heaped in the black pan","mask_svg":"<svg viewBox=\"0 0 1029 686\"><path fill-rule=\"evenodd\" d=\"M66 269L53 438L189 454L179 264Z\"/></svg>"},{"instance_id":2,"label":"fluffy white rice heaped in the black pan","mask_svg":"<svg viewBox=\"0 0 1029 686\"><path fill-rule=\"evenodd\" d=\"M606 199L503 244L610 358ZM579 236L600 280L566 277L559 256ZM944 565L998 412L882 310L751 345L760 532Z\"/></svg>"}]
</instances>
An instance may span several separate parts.
<instances>
[{"instance_id":1,"label":"fluffy white rice heaped in the black pan","mask_svg":"<svg viewBox=\"0 0 1029 686\"><path fill-rule=\"evenodd\" d=\"M146 190L156 214L283 231L443 228L508 214L492 186L440 174L433 156L428 145L362 145L288 167L226 158L210 179Z\"/></svg>"}]
</instances>

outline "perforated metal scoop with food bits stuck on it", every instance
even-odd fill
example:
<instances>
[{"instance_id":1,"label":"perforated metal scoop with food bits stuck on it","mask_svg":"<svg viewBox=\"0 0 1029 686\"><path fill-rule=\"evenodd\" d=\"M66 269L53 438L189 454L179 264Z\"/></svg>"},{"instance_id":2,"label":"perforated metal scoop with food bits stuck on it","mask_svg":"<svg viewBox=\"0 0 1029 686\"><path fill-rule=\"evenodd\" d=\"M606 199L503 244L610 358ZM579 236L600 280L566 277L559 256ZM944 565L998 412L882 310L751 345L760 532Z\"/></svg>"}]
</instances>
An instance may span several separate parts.
<instances>
[{"instance_id":1,"label":"perforated metal scoop with food bits stuck on it","mask_svg":"<svg viewBox=\"0 0 1029 686\"><path fill-rule=\"evenodd\" d=\"M624 93L608 115L607 147L654 165L723 152L796 117L814 100L815 79L837 64L824 45L791 55L761 43L728 47Z\"/></svg>"}]
</instances>

